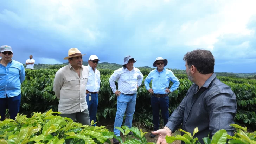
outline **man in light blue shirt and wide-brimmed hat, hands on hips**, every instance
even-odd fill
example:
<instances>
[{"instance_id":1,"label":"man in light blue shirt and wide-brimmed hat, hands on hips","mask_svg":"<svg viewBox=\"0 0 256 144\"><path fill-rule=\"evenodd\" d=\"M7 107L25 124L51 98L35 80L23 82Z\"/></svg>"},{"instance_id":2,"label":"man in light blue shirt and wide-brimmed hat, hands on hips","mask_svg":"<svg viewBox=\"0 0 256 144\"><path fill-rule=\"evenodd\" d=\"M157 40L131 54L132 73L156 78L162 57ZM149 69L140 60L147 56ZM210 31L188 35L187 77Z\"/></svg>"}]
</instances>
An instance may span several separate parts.
<instances>
[{"instance_id":1,"label":"man in light blue shirt and wide-brimmed hat, hands on hips","mask_svg":"<svg viewBox=\"0 0 256 144\"><path fill-rule=\"evenodd\" d=\"M167 59L157 57L153 63L155 70L152 70L146 79L144 84L146 89L152 94L151 107L153 111L153 124L154 131L159 129L159 110L161 109L164 125L168 122L169 118L169 93L175 91L179 87L179 80L174 76L171 70L164 68L167 65ZM149 87L149 83L152 80L152 88ZM170 81L173 82L171 88L169 88ZM150 137L154 138L152 133Z\"/></svg>"}]
</instances>

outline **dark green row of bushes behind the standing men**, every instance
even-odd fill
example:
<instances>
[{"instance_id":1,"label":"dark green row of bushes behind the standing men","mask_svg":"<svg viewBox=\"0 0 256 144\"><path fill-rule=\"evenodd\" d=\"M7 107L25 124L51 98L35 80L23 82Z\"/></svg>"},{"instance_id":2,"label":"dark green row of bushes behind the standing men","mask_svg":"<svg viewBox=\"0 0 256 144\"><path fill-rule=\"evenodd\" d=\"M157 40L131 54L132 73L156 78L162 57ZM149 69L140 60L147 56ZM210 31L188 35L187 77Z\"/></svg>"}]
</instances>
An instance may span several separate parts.
<instances>
[{"instance_id":1,"label":"dark green row of bushes behind the standing men","mask_svg":"<svg viewBox=\"0 0 256 144\"><path fill-rule=\"evenodd\" d=\"M33 112L45 112L50 109L58 111L58 100L53 92L53 80L57 69L46 70L26 70L26 80L23 82L21 91L21 110L23 114L33 114ZM146 78L149 70L141 70ZM101 88L98 97L97 119L102 118L114 121L116 113L117 97L111 91L109 86L109 77L113 70L100 69ZM180 80L178 89L169 94L170 114L179 105L191 86L191 81L185 74L175 74ZM256 129L256 84L255 80L235 79L218 77L224 81L237 96L237 114L235 121L237 124L248 126L250 129ZM250 84L251 83L251 84ZM117 82L116 82L117 84ZM150 84L151 85L151 84ZM172 83L170 83L171 87ZM150 105L150 94L144 86L139 87L137 92L136 109L133 125L136 127L152 127L152 109Z\"/></svg>"}]
</instances>

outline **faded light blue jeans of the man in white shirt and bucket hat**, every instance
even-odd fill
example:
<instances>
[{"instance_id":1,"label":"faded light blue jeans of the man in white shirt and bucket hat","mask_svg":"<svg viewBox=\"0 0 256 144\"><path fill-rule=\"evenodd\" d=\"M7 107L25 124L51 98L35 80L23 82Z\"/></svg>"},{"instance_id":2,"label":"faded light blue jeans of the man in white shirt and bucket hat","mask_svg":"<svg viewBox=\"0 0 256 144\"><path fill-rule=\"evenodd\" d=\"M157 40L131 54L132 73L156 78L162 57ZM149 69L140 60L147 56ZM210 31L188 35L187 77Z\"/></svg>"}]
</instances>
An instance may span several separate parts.
<instances>
[{"instance_id":1,"label":"faded light blue jeans of the man in white shirt and bucket hat","mask_svg":"<svg viewBox=\"0 0 256 144\"><path fill-rule=\"evenodd\" d=\"M135 105L136 105L136 98L137 93L133 94L132 96L126 94L120 94L117 97L117 111L116 111L116 118L114 123L114 134L116 136L120 136L120 131L117 130L115 127L121 127L123 123L123 116L126 112L125 123L127 127L132 127L133 121L133 114L135 112Z\"/></svg>"}]
</instances>

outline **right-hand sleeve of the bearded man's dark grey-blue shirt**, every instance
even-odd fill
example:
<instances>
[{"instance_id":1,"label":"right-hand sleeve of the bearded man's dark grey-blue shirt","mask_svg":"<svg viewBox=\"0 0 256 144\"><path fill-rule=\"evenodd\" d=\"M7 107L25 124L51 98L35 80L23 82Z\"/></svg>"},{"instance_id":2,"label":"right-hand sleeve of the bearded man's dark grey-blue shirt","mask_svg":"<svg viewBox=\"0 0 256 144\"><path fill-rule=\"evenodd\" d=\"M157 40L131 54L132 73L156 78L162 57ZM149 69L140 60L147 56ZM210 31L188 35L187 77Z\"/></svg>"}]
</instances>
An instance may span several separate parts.
<instances>
[{"instance_id":1,"label":"right-hand sleeve of the bearded man's dark grey-blue shirt","mask_svg":"<svg viewBox=\"0 0 256 144\"><path fill-rule=\"evenodd\" d=\"M210 119L210 137L221 129L225 129L229 135L233 136L235 128L230 124L235 123L236 98L229 93L213 93L207 100L207 109Z\"/></svg>"}]
</instances>

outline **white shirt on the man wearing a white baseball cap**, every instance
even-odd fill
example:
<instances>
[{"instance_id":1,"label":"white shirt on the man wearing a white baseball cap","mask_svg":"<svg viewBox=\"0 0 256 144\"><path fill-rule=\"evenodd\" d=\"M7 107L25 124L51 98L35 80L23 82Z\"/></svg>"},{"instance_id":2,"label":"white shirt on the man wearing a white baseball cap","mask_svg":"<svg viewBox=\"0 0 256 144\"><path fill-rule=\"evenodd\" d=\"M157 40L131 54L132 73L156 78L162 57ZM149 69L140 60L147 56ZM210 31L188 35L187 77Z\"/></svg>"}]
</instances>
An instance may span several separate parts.
<instances>
[{"instance_id":1,"label":"white shirt on the man wearing a white baseball cap","mask_svg":"<svg viewBox=\"0 0 256 144\"><path fill-rule=\"evenodd\" d=\"M87 66L89 69L88 81L86 85L86 89L89 92L98 92L100 90L101 85L101 74L100 71L95 68L93 71L90 65Z\"/></svg>"}]
</instances>

